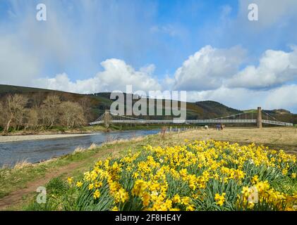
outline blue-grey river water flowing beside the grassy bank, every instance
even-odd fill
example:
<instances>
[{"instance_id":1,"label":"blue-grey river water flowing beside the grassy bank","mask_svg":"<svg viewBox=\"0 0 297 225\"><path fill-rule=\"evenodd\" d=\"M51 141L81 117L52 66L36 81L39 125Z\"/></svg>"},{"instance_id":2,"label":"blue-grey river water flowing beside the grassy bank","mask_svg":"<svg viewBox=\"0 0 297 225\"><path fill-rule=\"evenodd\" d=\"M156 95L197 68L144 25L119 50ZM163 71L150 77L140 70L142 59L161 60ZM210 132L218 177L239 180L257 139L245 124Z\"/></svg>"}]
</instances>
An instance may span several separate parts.
<instances>
[{"instance_id":1,"label":"blue-grey river water flowing beside the grassy bank","mask_svg":"<svg viewBox=\"0 0 297 225\"><path fill-rule=\"evenodd\" d=\"M158 132L159 130L111 131L87 136L0 143L0 168L4 165L13 167L16 162L23 160L32 163L49 160L72 153L78 147L88 148L92 143L99 145L105 141L131 139Z\"/></svg>"}]
</instances>

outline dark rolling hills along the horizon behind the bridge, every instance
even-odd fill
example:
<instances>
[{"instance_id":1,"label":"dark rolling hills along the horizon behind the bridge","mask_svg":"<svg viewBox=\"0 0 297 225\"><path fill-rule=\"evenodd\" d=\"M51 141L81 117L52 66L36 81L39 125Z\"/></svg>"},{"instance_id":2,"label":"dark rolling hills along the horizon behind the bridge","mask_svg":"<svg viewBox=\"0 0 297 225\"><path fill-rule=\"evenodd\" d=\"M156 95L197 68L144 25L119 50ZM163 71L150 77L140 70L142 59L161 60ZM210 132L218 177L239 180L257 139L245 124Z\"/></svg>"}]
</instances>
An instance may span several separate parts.
<instances>
[{"instance_id":1,"label":"dark rolling hills along the horizon behind the bridge","mask_svg":"<svg viewBox=\"0 0 297 225\"><path fill-rule=\"evenodd\" d=\"M0 98L5 98L7 94L22 94L26 96L29 99L29 108L31 106L30 102L40 101L41 103L48 95L51 94L56 94L60 96L61 99L67 99L68 101L86 100L85 102L87 102L88 107L91 108L91 113L88 120L95 120L97 117L99 117L99 115L102 115L104 110L109 109L111 103L113 102L109 98L109 92L97 94L75 94L65 91L54 91L49 89L37 89L24 86L0 84ZM216 101L198 101L195 103L187 103L187 118L192 120L224 117L242 112L243 111L241 110L229 108L228 106ZM297 115L290 113L288 110L265 110L265 112L277 118L277 120L297 123ZM154 116L154 118L157 118L157 116Z\"/></svg>"}]
</instances>

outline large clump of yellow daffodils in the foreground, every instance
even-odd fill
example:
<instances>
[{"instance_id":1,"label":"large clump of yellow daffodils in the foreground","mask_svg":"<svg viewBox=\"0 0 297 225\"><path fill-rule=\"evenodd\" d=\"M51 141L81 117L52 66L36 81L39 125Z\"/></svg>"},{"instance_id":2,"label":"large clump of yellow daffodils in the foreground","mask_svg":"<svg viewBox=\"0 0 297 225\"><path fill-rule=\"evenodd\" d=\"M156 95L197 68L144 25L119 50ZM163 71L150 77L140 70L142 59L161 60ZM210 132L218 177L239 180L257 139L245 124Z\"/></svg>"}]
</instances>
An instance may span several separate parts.
<instances>
[{"instance_id":1,"label":"large clump of yellow daffodils in the foreground","mask_svg":"<svg viewBox=\"0 0 297 225\"><path fill-rule=\"evenodd\" d=\"M98 161L75 210L297 210L296 157L263 146L195 141Z\"/></svg>"}]
</instances>

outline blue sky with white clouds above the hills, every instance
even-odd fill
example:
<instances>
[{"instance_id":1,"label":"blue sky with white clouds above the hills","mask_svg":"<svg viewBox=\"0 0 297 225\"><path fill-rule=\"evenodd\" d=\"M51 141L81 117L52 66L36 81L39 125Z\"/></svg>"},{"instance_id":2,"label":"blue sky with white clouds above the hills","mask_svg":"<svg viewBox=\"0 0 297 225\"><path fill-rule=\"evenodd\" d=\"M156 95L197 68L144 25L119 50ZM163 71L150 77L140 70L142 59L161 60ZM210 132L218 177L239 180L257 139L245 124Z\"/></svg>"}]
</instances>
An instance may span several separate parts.
<instances>
[{"instance_id":1,"label":"blue sky with white clouds above the hills","mask_svg":"<svg viewBox=\"0 0 297 225\"><path fill-rule=\"evenodd\" d=\"M296 0L0 0L0 84L297 113L296 23Z\"/></svg>"}]
</instances>

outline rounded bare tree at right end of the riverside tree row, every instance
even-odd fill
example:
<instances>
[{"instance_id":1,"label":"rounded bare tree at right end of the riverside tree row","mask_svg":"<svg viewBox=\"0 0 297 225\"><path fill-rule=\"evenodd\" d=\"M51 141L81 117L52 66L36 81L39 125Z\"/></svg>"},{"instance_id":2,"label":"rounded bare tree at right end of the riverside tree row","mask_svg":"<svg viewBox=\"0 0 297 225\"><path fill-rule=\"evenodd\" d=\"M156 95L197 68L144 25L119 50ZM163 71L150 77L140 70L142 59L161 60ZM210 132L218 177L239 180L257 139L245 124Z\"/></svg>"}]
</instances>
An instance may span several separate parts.
<instances>
[{"instance_id":1,"label":"rounded bare tree at right end of the riverside tree row","mask_svg":"<svg viewBox=\"0 0 297 225\"><path fill-rule=\"evenodd\" d=\"M64 126L70 128L85 124L85 115L83 107L78 103L65 101L60 105L61 122Z\"/></svg>"}]
</instances>

